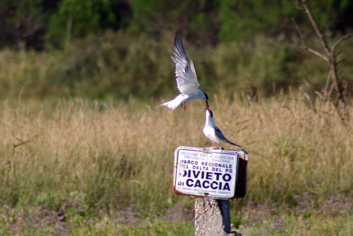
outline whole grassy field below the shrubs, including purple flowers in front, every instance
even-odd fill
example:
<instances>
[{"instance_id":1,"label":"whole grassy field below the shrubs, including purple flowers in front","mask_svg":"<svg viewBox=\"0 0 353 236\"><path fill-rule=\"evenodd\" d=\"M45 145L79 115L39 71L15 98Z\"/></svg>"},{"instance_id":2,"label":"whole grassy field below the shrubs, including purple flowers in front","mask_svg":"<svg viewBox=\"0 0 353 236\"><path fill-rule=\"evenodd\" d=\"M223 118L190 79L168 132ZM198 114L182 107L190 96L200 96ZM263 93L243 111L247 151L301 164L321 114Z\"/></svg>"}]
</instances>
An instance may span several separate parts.
<instances>
[{"instance_id":1,"label":"whole grassy field below the shrubs, including purple flowers in front","mask_svg":"<svg viewBox=\"0 0 353 236\"><path fill-rule=\"evenodd\" d=\"M176 147L211 145L201 102L174 112L133 99L55 103L0 105L0 235L194 234L194 200L173 195L172 171ZM209 103L249 153L236 231L351 235L352 119L301 94Z\"/></svg>"}]
</instances>

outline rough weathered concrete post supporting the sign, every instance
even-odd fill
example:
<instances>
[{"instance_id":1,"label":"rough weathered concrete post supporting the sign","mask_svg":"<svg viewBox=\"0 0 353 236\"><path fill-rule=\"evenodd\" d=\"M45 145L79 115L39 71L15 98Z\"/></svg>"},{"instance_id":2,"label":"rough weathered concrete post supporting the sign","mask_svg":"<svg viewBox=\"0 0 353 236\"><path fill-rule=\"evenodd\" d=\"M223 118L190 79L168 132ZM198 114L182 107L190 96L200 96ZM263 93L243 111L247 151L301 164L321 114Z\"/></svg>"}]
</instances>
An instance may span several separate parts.
<instances>
[{"instance_id":1,"label":"rough weathered concrete post supporting the sign","mask_svg":"<svg viewBox=\"0 0 353 236\"><path fill-rule=\"evenodd\" d=\"M229 200L195 198L195 236L241 236L231 232Z\"/></svg>"}]
</instances>

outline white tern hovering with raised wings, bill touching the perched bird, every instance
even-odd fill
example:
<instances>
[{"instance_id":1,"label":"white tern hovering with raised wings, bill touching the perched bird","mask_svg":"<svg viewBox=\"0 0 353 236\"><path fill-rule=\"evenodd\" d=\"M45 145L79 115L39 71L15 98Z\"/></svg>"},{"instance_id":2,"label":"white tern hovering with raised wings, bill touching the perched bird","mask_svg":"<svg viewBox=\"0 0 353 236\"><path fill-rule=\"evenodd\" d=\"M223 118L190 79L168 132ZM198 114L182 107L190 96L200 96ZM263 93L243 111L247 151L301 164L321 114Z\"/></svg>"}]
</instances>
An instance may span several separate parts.
<instances>
[{"instance_id":1,"label":"white tern hovering with raised wings, bill touching the perched bird","mask_svg":"<svg viewBox=\"0 0 353 236\"><path fill-rule=\"evenodd\" d=\"M201 100L206 102L206 109L208 109L208 96L199 90L200 84L196 77L194 64L186 56L179 30L175 33L173 53L175 56L172 57L175 63L175 78L180 94L174 100L163 103L158 107L167 106L169 109L175 110L181 104L181 107L183 108L184 105L184 110L186 110L185 103L192 100Z\"/></svg>"}]
</instances>

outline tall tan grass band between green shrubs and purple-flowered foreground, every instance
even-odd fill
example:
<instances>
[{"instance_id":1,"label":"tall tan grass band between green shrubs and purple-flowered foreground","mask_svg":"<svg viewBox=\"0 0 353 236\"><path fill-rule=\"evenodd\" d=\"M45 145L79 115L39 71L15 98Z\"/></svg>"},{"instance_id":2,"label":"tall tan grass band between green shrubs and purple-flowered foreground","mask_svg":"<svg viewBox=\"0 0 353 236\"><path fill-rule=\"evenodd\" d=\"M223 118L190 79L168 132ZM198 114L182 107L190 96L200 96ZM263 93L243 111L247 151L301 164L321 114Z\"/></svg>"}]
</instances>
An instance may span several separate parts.
<instances>
[{"instance_id":1,"label":"tall tan grass band between green shrubs and purple-flowered foreground","mask_svg":"<svg viewBox=\"0 0 353 236\"><path fill-rule=\"evenodd\" d=\"M234 214L249 201L296 207L303 193L313 202L353 197L352 121L342 123L330 104L317 104L315 113L302 101L301 94L259 103L210 99L216 124L249 153L247 194L232 201ZM210 146L203 104L174 112L133 99L61 100L52 110L11 104L0 113L1 206L58 214L70 203L86 219L126 207L153 208L157 217L175 204L193 209L192 198L172 193L173 155L179 145Z\"/></svg>"}]
</instances>

